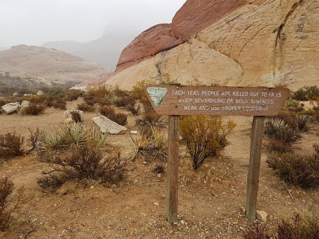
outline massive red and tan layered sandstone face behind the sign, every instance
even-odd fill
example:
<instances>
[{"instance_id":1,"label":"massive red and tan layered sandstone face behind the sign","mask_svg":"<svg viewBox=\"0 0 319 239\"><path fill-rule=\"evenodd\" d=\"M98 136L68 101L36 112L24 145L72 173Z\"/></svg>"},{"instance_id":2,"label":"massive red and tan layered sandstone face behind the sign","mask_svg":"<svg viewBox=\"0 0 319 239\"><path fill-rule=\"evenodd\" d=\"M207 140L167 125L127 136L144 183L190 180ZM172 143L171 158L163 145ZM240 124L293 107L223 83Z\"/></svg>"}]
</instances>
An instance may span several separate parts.
<instances>
[{"instance_id":1,"label":"massive red and tan layered sandstone face behind the sign","mask_svg":"<svg viewBox=\"0 0 319 239\"><path fill-rule=\"evenodd\" d=\"M268 86L318 85L317 0L188 0L172 24L142 32L106 84L138 81Z\"/></svg>"}]
</instances>

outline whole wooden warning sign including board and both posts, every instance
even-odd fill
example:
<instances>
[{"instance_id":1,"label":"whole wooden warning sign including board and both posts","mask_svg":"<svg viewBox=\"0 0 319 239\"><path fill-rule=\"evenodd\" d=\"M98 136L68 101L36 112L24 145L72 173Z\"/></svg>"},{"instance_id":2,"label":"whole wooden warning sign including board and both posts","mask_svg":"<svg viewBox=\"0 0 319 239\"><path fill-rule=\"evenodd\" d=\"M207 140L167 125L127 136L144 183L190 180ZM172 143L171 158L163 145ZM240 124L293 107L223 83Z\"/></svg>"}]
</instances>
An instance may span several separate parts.
<instances>
[{"instance_id":1,"label":"whole wooden warning sign including board and both posts","mask_svg":"<svg viewBox=\"0 0 319 239\"><path fill-rule=\"evenodd\" d=\"M146 86L154 111L169 115L167 220L177 222L179 115L254 116L247 178L246 216L255 220L265 116L279 113L290 91L266 87Z\"/></svg>"}]
</instances>

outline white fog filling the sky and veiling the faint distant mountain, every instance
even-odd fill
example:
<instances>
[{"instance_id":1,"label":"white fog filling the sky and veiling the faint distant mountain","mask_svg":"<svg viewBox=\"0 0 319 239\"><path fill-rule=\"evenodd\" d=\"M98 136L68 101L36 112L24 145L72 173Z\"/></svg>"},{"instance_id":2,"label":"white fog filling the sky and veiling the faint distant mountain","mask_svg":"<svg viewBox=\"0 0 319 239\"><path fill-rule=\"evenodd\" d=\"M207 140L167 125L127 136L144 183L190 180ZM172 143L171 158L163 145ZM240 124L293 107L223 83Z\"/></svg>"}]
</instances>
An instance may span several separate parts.
<instances>
[{"instance_id":1,"label":"white fog filling the sky and veiling the faint distant mountain","mask_svg":"<svg viewBox=\"0 0 319 239\"><path fill-rule=\"evenodd\" d=\"M2 0L0 51L25 44L81 56L114 69L140 32L169 23L185 0ZM4 49L3 49L4 48Z\"/></svg>"}]
</instances>

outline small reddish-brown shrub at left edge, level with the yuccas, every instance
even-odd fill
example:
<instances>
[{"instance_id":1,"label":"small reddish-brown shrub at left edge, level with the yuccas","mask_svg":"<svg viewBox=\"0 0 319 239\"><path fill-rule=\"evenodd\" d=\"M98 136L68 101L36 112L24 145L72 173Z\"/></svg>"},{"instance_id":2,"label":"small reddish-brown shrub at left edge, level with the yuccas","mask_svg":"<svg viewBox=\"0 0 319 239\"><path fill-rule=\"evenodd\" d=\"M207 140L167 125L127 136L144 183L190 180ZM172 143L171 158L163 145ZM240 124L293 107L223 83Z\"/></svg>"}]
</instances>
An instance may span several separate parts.
<instances>
[{"instance_id":1,"label":"small reddish-brown shrub at left edge, level with the yuccas","mask_svg":"<svg viewBox=\"0 0 319 239\"><path fill-rule=\"evenodd\" d=\"M22 155L23 142L24 137L17 135L16 132L0 135L0 158Z\"/></svg>"}]
</instances>

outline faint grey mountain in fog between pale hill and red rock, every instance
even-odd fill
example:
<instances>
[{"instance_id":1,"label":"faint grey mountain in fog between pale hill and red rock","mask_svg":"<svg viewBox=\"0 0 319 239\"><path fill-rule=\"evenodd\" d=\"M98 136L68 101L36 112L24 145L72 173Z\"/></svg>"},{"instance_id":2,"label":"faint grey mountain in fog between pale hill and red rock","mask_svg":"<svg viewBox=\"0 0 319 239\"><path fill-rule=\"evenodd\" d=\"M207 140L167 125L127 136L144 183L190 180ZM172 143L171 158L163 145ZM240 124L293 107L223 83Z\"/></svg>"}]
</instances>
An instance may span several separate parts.
<instances>
[{"instance_id":1,"label":"faint grey mountain in fog between pale hill and red rock","mask_svg":"<svg viewBox=\"0 0 319 239\"><path fill-rule=\"evenodd\" d=\"M90 62L95 62L102 67L115 69L123 48L130 44L137 32L105 33L102 37L87 43L74 41L47 42L42 45L46 48L54 48L69 54L80 56Z\"/></svg>"}]
</instances>

